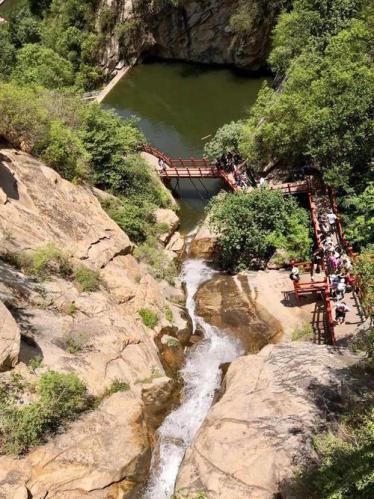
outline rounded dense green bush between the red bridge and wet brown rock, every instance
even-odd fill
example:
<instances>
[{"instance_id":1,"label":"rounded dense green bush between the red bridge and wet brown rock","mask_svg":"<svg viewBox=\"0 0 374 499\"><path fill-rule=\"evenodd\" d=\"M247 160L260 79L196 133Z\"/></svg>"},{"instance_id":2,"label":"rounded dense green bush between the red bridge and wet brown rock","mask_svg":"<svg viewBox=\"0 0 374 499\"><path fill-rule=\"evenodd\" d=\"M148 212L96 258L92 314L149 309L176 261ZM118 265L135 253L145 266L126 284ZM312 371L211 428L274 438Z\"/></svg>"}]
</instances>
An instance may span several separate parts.
<instances>
[{"instance_id":1,"label":"rounded dense green bush between the red bridge and wet brown rock","mask_svg":"<svg viewBox=\"0 0 374 499\"><path fill-rule=\"evenodd\" d=\"M208 216L224 268L257 267L277 248L300 259L310 252L305 210L278 191L220 194L210 202Z\"/></svg>"}]
</instances>

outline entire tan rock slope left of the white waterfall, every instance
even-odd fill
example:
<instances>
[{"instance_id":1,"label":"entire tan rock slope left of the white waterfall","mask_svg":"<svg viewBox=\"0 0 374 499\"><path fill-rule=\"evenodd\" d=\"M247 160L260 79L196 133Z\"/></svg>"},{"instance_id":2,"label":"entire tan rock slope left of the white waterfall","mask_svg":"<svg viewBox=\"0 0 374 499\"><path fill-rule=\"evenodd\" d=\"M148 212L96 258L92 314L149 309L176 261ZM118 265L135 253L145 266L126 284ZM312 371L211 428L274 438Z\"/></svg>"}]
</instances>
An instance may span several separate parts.
<instances>
[{"instance_id":1,"label":"entire tan rock slope left of the white waterfall","mask_svg":"<svg viewBox=\"0 0 374 499\"><path fill-rule=\"evenodd\" d=\"M155 337L165 325L184 334L183 307L175 304L183 293L155 281L136 261L133 244L89 187L66 182L12 149L1 150L0 185L7 195L0 204L0 239L8 260L53 242L73 264L99 270L105 281L91 293L55 276L37 282L0 257L0 298L18 324L0 306L0 365L17 362L21 331L15 372L30 372L25 363L38 356L36 376L48 369L74 372L96 396L115 380L129 386L26 458L0 456L0 496L135 497L146 478L154 429L173 392ZM157 314L154 329L144 326L142 308Z\"/></svg>"}]
</instances>

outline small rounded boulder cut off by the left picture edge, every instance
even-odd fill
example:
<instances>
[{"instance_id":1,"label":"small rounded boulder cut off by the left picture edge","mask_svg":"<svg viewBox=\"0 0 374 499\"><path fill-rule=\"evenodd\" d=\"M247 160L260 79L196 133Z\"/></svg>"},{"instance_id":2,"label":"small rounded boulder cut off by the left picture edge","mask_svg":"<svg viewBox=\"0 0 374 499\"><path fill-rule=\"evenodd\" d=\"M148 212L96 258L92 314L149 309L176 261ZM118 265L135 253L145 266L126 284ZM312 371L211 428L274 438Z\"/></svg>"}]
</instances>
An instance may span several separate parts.
<instances>
[{"instance_id":1,"label":"small rounded boulder cut off by the left picture edge","mask_svg":"<svg viewBox=\"0 0 374 499\"><path fill-rule=\"evenodd\" d=\"M0 302L0 371L11 369L17 364L20 341L17 323Z\"/></svg>"}]
</instances>

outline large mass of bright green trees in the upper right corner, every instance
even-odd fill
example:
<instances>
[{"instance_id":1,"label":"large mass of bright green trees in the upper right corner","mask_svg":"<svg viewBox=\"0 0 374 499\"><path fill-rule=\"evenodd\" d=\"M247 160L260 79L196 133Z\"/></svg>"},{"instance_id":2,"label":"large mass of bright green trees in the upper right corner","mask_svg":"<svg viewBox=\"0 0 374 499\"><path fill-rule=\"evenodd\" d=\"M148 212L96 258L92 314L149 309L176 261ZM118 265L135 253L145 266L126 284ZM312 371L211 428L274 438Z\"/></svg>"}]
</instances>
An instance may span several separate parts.
<instances>
[{"instance_id":1,"label":"large mass of bright green trees in the upper right corner","mask_svg":"<svg viewBox=\"0 0 374 499\"><path fill-rule=\"evenodd\" d=\"M241 152L255 170L309 164L348 193L349 235L372 239L374 70L372 10L359 0L296 0L280 16L270 57L286 78L264 87L244 125ZM353 215L353 216L352 216Z\"/></svg>"}]
</instances>

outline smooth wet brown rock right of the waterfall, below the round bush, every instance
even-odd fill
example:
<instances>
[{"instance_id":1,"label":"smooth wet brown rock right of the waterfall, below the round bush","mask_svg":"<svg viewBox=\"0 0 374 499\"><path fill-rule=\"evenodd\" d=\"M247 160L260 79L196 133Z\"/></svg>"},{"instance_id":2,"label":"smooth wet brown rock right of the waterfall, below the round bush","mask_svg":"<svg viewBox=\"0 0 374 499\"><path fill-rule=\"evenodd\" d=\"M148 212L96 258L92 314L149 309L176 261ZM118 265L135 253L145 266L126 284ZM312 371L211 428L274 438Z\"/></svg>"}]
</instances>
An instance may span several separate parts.
<instances>
[{"instance_id":1,"label":"smooth wet brown rock right of the waterfall, below the round bush","mask_svg":"<svg viewBox=\"0 0 374 499\"><path fill-rule=\"evenodd\" d=\"M198 315L239 338L248 352L282 336L280 322L257 302L245 275L213 277L199 288L196 304Z\"/></svg>"}]
</instances>

